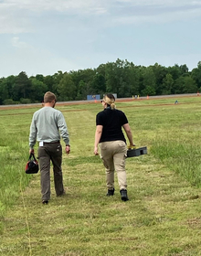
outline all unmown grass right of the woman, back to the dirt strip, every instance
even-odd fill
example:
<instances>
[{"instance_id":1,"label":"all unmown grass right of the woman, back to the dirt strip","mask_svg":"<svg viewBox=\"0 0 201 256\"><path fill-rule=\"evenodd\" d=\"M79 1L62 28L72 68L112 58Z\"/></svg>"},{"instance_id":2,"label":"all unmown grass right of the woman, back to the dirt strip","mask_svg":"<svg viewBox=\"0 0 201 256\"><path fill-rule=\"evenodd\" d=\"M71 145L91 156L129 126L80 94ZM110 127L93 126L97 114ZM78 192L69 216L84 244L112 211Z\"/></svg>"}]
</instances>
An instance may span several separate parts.
<instances>
[{"instance_id":1,"label":"all unmown grass right of the woman, back to the dirt strip","mask_svg":"<svg viewBox=\"0 0 201 256\"><path fill-rule=\"evenodd\" d=\"M154 101L155 107L139 108L134 112L126 109L126 112L137 140L147 144L149 152L164 165L200 187L201 100L189 100L181 99L179 105L173 102L161 105L162 100Z\"/></svg>"}]
</instances>

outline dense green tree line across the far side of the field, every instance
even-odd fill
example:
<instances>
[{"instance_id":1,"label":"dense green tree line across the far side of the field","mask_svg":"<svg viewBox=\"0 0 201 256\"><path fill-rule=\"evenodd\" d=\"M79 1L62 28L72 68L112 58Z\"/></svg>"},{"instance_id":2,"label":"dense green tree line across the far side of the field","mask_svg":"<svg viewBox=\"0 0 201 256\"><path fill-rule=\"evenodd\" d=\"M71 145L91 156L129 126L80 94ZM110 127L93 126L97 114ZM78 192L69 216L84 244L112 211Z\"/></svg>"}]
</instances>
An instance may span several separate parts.
<instances>
[{"instance_id":1,"label":"dense green tree line across the far side of the field","mask_svg":"<svg viewBox=\"0 0 201 256\"><path fill-rule=\"evenodd\" d=\"M87 95L116 93L118 98L132 95L168 95L196 93L201 88L201 61L189 71L187 66L164 67L155 63L136 66L127 59L100 64L96 69L58 71L54 75L0 78L0 104L37 103L46 91L54 92L58 101L87 100Z\"/></svg>"}]
</instances>

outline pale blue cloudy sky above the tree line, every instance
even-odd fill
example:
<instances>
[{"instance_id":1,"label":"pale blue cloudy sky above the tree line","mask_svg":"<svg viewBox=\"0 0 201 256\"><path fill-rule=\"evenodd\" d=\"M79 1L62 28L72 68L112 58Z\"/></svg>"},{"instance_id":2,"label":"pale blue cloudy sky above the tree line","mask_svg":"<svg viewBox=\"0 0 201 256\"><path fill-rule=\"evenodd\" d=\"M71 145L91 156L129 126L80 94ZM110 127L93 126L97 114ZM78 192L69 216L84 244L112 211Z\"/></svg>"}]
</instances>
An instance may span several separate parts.
<instances>
[{"instance_id":1,"label":"pale blue cloudy sky above the tree line","mask_svg":"<svg viewBox=\"0 0 201 256\"><path fill-rule=\"evenodd\" d=\"M0 77L201 60L201 0L0 0Z\"/></svg>"}]
</instances>

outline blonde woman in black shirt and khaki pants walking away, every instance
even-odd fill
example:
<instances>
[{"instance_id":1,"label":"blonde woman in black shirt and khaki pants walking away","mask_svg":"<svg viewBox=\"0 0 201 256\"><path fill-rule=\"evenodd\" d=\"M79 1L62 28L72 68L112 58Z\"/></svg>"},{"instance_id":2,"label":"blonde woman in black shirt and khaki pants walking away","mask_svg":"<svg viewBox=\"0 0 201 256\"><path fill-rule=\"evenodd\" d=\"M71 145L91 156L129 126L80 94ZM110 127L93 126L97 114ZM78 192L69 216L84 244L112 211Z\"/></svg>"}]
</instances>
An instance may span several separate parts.
<instances>
[{"instance_id":1,"label":"blonde woman in black shirt and khaki pants walking away","mask_svg":"<svg viewBox=\"0 0 201 256\"><path fill-rule=\"evenodd\" d=\"M96 115L94 155L99 155L99 145L100 158L106 169L108 188L106 196L114 195L114 170L116 170L122 201L127 201L129 200L125 172L127 145L122 128L128 137L130 146L135 144L132 142L132 131L127 117L122 111L116 109L114 102L115 98L112 94L106 94L101 101L104 110Z\"/></svg>"}]
</instances>

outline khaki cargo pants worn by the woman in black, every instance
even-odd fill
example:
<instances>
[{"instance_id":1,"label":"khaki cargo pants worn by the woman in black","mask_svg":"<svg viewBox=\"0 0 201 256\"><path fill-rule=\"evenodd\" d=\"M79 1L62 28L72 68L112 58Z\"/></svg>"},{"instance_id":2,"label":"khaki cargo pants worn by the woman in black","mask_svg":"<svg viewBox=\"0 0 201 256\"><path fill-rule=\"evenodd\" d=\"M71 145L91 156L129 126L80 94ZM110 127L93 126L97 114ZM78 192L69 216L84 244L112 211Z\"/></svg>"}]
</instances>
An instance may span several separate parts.
<instances>
[{"instance_id":1,"label":"khaki cargo pants worn by the woman in black","mask_svg":"<svg viewBox=\"0 0 201 256\"><path fill-rule=\"evenodd\" d=\"M125 159L127 146L123 141L100 143L100 158L106 169L106 185L114 188L114 170L117 172L120 189L127 188Z\"/></svg>"}]
</instances>

